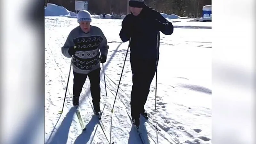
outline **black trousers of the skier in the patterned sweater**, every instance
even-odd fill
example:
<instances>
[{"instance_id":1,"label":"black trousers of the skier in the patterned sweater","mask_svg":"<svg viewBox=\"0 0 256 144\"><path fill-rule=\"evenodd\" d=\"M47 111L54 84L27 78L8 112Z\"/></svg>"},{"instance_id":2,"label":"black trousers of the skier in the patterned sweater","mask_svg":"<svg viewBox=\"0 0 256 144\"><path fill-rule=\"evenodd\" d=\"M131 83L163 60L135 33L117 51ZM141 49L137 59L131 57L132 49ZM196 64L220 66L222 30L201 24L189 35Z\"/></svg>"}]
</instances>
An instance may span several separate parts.
<instances>
[{"instance_id":1,"label":"black trousers of the skier in the patterned sweater","mask_svg":"<svg viewBox=\"0 0 256 144\"><path fill-rule=\"evenodd\" d=\"M87 76L90 80L90 88L92 95L92 103L100 103L100 68L95 69L89 74L79 74L73 71L74 74L74 84L73 84L73 95L79 96L82 92L85 80Z\"/></svg>"}]
</instances>

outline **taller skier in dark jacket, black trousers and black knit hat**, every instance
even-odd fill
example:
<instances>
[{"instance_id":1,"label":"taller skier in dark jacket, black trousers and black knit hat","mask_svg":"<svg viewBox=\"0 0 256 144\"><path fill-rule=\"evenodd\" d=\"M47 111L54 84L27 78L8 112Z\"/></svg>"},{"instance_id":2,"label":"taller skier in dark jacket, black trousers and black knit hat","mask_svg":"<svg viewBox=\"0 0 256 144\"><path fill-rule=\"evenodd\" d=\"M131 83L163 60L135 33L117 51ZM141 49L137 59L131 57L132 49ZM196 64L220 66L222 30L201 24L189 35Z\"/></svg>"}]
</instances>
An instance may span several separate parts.
<instances>
[{"instance_id":1,"label":"taller skier in dark jacket, black trousers and black knit hat","mask_svg":"<svg viewBox=\"0 0 256 144\"><path fill-rule=\"evenodd\" d=\"M144 0L129 0L130 11L122 21L120 38L130 38L130 62L132 68L131 116L137 127L140 114L147 116L144 105L148 98L150 84L156 73L161 31L173 33L173 25L159 12L144 4Z\"/></svg>"}]
</instances>

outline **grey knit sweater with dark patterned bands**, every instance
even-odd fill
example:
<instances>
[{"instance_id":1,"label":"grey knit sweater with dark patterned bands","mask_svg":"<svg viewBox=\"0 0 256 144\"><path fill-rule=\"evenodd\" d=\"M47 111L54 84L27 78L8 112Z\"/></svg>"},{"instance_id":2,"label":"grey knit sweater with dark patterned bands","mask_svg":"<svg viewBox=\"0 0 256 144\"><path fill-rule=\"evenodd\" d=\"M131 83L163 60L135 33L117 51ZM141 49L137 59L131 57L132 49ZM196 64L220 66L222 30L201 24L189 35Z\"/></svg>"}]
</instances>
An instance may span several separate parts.
<instances>
[{"instance_id":1,"label":"grey knit sweater with dark patterned bands","mask_svg":"<svg viewBox=\"0 0 256 144\"><path fill-rule=\"evenodd\" d=\"M91 26L89 33L84 33L78 26L71 30L68 38L61 47L62 54L71 58L68 49L76 45L72 66L73 71L81 74L88 74L100 68L100 54L108 55L108 42L100 28Z\"/></svg>"}]
</instances>

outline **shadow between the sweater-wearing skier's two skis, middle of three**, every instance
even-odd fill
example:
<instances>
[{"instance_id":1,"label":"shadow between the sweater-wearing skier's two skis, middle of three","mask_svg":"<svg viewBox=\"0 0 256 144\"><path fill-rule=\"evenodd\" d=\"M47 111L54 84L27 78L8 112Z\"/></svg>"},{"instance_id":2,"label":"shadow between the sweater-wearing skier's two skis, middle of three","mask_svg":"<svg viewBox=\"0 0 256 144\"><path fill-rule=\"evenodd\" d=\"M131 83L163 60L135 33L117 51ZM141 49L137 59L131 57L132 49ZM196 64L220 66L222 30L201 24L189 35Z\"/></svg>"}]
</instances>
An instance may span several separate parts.
<instances>
[{"instance_id":1,"label":"shadow between the sweater-wearing skier's two skis, middle of three","mask_svg":"<svg viewBox=\"0 0 256 144\"><path fill-rule=\"evenodd\" d=\"M98 124L98 117L93 115L90 122L85 126L86 130L76 138L74 144L87 143L90 140L90 137L96 124Z\"/></svg>"}]
</instances>

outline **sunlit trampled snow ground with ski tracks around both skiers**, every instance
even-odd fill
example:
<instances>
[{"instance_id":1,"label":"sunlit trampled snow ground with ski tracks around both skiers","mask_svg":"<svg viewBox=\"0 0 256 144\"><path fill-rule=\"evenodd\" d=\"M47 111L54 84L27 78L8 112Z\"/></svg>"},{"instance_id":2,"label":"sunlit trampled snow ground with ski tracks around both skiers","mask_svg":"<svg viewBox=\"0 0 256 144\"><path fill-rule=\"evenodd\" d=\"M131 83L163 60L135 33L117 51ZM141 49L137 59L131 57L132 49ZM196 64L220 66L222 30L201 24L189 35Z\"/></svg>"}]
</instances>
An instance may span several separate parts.
<instances>
[{"instance_id":1,"label":"sunlit trampled snow ground with ski tracks around both skiers","mask_svg":"<svg viewBox=\"0 0 256 144\"><path fill-rule=\"evenodd\" d=\"M105 105L102 122L110 133L111 109L128 42L122 43L118 35L121 20L93 19L92 25L103 30L110 47L108 59L104 64L107 96L103 71L100 74L101 109ZM61 46L65 43L70 30L76 26L76 19L73 18L45 17L45 141L48 141L50 136L51 144L108 143L97 120L93 117L89 104L89 100L91 101L89 78L84 84L79 106L87 130L82 133L75 111L72 110L72 70L63 114L61 117L58 114L64 100L71 60L62 55ZM161 130L158 132L159 143L171 143L172 140L184 144L211 143L211 49L209 49L211 37L203 36L207 31L211 33L210 29L174 29L174 34L171 36L161 34L157 112L155 113L155 78L145 106L154 125L155 117L157 117L157 127ZM195 32L197 34L193 35ZM125 111L127 108L130 114L132 73L129 54L130 52L125 62L113 112L111 141L118 144L141 143ZM195 65L195 63L200 63L196 65L198 68L191 68L188 72L186 68L192 67L190 65ZM200 65L203 66L200 67ZM184 70L180 72L176 69ZM198 71L195 69L202 69L203 78L200 78L202 73L197 74ZM148 131L148 143L155 143L155 128L148 122L143 124L143 118L141 118L141 123L142 127L145 125Z\"/></svg>"}]
</instances>

